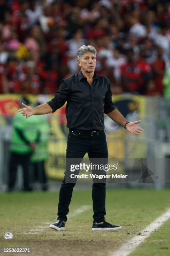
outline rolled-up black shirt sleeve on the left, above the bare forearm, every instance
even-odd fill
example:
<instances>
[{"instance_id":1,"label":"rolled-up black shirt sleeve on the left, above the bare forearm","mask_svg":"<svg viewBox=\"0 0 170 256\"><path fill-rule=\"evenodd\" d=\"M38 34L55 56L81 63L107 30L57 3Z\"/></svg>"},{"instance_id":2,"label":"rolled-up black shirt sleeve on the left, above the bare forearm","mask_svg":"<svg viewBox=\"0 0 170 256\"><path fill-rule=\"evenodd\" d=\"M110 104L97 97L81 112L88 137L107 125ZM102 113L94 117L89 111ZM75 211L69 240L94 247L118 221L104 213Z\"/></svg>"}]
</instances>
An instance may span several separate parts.
<instances>
[{"instance_id":1,"label":"rolled-up black shirt sleeve on the left, above the bare forearm","mask_svg":"<svg viewBox=\"0 0 170 256\"><path fill-rule=\"evenodd\" d=\"M60 85L60 89L55 92L55 97L48 101L47 104L50 105L52 108L52 113L55 112L57 109L61 108L65 102L68 100L70 95L70 89L68 85L62 81Z\"/></svg>"}]
</instances>

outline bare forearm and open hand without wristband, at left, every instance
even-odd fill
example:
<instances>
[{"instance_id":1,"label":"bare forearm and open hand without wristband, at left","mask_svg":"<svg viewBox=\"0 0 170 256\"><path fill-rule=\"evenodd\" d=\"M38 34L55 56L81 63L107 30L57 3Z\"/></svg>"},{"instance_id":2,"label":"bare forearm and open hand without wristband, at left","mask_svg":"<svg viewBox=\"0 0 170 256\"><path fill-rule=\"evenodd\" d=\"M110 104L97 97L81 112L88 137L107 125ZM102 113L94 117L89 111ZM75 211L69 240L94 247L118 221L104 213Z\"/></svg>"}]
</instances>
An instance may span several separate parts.
<instances>
[{"instance_id":1,"label":"bare forearm and open hand without wristband, at left","mask_svg":"<svg viewBox=\"0 0 170 256\"><path fill-rule=\"evenodd\" d=\"M33 108L25 105L24 103L22 103L22 105L25 108L21 108L18 111L20 111L20 113L23 116L26 116L26 118L29 118L31 115L43 115L43 114L52 113L52 108L47 103L43 103Z\"/></svg>"}]
</instances>

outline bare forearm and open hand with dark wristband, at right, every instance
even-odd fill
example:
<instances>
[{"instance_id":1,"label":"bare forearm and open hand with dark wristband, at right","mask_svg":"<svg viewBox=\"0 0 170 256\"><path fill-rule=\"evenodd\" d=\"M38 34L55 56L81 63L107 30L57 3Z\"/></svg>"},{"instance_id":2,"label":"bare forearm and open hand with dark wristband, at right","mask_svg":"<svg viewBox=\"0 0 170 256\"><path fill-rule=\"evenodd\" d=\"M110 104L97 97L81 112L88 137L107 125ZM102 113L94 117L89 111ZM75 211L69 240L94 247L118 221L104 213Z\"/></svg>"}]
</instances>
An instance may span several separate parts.
<instances>
[{"instance_id":1,"label":"bare forearm and open hand with dark wristband, at right","mask_svg":"<svg viewBox=\"0 0 170 256\"><path fill-rule=\"evenodd\" d=\"M116 123L122 125L123 127L125 127L125 124L128 123L128 120L126 118L124 118L124 116L117 109L112 110L112 112L107 113L107 115L113 121L115 121ZM134 121L134 122L129 122L126 125L126 130L128 132L130 132L131 134L140 134L140 133L142 133L144 131L143 128L140 128L139 126L136 125L136 124L138 124L140 122L141 122L141 120Z\"/></svg>"}]
</instances>

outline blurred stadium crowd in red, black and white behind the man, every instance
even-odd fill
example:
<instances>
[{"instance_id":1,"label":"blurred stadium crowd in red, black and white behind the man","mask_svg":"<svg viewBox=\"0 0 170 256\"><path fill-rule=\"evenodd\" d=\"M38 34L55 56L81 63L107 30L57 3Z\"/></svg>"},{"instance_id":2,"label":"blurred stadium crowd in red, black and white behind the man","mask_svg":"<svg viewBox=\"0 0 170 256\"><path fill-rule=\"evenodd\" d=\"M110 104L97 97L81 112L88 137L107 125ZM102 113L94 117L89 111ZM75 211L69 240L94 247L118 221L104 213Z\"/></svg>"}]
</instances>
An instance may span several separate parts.
<instances>
[{"instance_id":1,"label":"blurred stadium crowd in red, black and white behind the man","mask_svg":"<svg viewBox=\"0 0 170 256\"><path fill-rule=\"evenodd\" d=\"M0 93L54 94L83 44L97 49L113 94L163 95L170 2L0 0Z\"/></svg>"}]
</instances>

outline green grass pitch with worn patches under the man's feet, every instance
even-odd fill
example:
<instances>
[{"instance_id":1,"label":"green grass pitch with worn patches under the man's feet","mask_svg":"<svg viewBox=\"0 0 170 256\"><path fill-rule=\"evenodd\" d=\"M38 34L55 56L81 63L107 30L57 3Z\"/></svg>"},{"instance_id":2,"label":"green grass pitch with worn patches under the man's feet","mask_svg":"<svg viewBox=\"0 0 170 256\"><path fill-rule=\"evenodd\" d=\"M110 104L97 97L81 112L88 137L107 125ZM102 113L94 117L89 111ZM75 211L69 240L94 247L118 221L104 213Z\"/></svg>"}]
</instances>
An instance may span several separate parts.
<instances>
[{"instance_id":1,"label":"green grass pitch with worn patches under the man's feet","mask_svg":"<svg viewBox=\"0 0 170 256\"><path fill-rule=\"evenodd\" d=\"M29 247L31 256L107 256L170 207L168 189L107 189L105 218L114 225L122 225L122 230L92 231L91 190L75 190L70 213L83 205L90 208L70 216L66 230L58 232L47 224L56 220L58 195L58 191L1 193L0 247ZM169 230L170 219L130 256L170 255ZM6 240L6 232L13 233L13 239Z\"/></svg>"}]
</instances>

